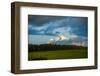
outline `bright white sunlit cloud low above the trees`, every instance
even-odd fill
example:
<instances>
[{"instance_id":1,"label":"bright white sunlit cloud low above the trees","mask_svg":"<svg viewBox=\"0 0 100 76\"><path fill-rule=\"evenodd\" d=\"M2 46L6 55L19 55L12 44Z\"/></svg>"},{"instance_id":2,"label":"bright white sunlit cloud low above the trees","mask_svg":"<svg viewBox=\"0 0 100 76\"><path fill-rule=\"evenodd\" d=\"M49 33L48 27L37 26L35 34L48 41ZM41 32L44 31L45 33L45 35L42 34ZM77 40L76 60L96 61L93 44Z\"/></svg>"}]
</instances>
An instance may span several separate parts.
<instances>
[{"instance_id":1,"label":"bright white sunlit cloud low above the trees","mask_svg":"<svg viewBox=\"0 0 100 76\"><path fill-rule=\"evenodd\" d=\"M87 46L87 38L78 35L59 35L48 41L50 44Z\"/></svg>"}]
</instances>

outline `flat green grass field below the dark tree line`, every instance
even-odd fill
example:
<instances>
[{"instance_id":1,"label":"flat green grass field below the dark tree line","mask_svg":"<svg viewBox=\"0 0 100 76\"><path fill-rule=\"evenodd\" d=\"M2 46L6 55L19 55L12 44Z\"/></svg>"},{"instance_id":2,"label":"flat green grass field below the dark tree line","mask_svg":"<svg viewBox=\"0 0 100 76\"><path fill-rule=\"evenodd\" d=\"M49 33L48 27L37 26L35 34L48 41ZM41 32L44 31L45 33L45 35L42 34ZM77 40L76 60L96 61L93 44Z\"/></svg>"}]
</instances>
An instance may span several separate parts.
<instances>
[{"instance_id":1,"label":"flat green grass field below the dark tree line","mask_svg":"<svg viewBox=\"0 0 100 76\"><path fill-rule=\"evenodd\" d=\"M29 52L28 60L52 60L52 59L75 59L87 58L86 49L79 50L55 50L55 51L37 51Z\"/></svg>"}]
</instances>

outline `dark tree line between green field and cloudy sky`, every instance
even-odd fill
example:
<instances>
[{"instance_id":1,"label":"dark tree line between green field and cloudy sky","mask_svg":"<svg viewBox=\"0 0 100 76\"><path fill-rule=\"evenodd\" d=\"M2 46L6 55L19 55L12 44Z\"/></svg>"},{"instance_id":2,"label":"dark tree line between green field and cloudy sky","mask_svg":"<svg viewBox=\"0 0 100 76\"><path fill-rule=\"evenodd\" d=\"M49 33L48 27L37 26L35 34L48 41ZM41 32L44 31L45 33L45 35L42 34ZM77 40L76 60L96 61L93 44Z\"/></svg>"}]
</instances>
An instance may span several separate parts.
<instances>
[{"instance_id":1,"label":"dark tree line between green field and cloudy sky","mask_svg":"<svg viewBox=\"0 0 100 76\"><path fill-rule=\"evenodd\" d=\"M87 49L87 47L76 46L76 45L54 45L54 44L41 44L31 45L28 44L28 50L31 51L56 51L56 50L76 50L76 49Z\"/></svg>"}]
</instances>

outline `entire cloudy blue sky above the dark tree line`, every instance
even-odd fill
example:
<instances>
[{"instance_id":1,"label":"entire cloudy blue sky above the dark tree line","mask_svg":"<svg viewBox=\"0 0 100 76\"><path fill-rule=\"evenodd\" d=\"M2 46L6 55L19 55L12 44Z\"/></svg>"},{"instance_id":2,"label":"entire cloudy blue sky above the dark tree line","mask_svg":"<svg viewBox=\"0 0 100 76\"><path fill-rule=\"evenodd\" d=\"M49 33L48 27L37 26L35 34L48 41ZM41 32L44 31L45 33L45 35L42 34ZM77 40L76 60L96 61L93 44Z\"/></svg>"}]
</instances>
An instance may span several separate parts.
<instances>
[{"instance_id":1,"label":"entire cloudy blue sky above the dark tree line","mask_svg":"<svg viewBox=\"0 0 100 76\"><path fill-rule=\"evenodd\" d=\"M87 17L28 15L29 44L87 46L87 32Z\"/></svg>"}]
</instances>

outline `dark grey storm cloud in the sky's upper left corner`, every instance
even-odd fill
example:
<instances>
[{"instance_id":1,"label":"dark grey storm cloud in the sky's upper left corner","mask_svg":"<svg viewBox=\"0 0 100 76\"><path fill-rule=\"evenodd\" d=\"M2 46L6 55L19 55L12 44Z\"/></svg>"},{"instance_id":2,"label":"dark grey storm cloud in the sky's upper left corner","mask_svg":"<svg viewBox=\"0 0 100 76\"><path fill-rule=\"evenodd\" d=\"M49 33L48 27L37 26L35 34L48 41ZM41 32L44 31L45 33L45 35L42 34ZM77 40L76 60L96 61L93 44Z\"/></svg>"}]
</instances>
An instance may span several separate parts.
<instances>
[{"instance_id":1,"label":"dark grey storm cloud in the sky's upper left corner","mask_svg":"<svg viewBox=\"0 0 100 76\"><path fill-rule=\"evenodd\" d=\"M43 16L43 15L29 15L28 16L28 21L30 25L37 25L37 26L42 26L43 24L47 23L47 22L51 22L51 21L55 21L55 20L60 20L60 19L64 19L66 17L54 17L54 16Z\"/></svg>"}]
</instances>

